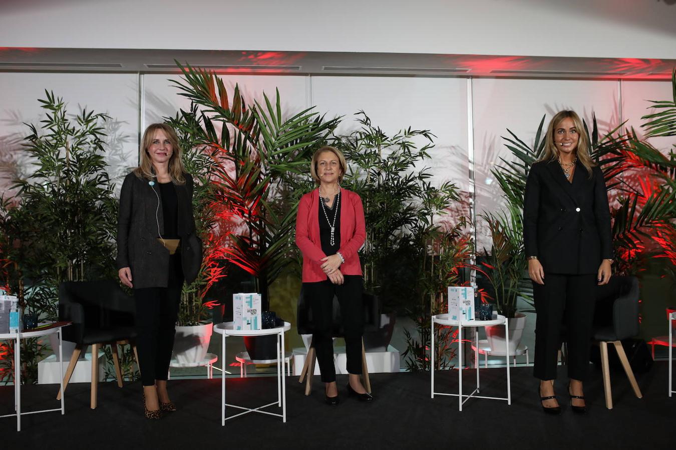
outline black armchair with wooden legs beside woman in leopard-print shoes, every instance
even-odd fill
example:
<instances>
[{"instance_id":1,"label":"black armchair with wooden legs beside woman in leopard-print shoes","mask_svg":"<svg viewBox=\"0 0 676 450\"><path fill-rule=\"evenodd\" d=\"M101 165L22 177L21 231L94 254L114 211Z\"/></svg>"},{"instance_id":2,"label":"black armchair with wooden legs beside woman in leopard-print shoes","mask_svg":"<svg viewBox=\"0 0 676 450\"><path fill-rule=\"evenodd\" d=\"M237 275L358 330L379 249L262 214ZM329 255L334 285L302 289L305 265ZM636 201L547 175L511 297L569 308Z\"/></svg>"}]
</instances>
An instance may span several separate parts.
<instances>
[{"instance_id":1,"label":"black armchair with wooden legs beside woman in leopard-print shoes","mask_svg":"<svg viewBox=\"0 0 676 450\"><path fill-rule=\"evenodd\" d=\"M97 405L99 380L99 349L102 345L112 347L113 364L118 386L122 387L118 344L130 343L137 364L136 309L134 300L122 291L116 281L68 281L59 285L59 320L69 320L70 327L63 331L66 341L76 343L66 376L64 391L70 381L75 365L87 345L91 345L91 409ZM57 399L61 398L61 390Z\"/></svg>"}]
</instances>

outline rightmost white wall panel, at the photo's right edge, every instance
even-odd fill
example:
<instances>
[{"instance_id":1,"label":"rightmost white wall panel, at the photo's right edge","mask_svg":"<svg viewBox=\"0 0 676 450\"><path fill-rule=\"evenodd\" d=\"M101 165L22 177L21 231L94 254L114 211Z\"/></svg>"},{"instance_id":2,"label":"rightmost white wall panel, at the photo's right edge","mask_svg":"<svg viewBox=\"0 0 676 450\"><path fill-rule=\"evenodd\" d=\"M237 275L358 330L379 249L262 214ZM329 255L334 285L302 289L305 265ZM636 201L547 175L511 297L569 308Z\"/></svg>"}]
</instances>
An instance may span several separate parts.
<instances>
[{"instance_id":1,"label":"rightmost white wall panel, at the photo's right edge","mask_svg":"<svg viewBox=\"0 0 676 450\"><path fill-rule=\"evenodd\" d=\"M633 127L640 136L644 135L644 131L641 128L641 124L644 121L641 117L656 112L651 107L652 103L649 102L650 100L673 101L671 82L622 82L622 117L623 120L627 121L627 127ZM676 145L676 137L651 138L650 143L665 154L669 154L669 150L674 150L673 146Z\"/></svg>"}]
</instances>

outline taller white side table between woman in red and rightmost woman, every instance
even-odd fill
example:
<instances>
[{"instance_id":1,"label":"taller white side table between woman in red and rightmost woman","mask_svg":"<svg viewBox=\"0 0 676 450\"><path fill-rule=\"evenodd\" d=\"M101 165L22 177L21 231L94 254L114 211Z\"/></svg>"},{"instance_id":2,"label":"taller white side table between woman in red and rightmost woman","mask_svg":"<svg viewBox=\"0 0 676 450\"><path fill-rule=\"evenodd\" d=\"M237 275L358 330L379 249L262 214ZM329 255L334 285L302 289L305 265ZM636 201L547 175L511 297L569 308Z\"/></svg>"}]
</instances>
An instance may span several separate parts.
<instances>
[{"instance_id":1,"label":"taller white side table between woman in red and rightmost woman","mask_svg":"<svg viewBox=\"0 0 676 450\"><path fill-rule=\"evenodd\" d=\"M458 327L458 393L444 393L444 392L435 392L434 390L434 326L435 325L445 325L447 327ZM489 325L504 325L505 327L505 362L507 366L507 397L486 397L485 395L476 395L479 391L479 333L475 333L476 342L474 345L475 348L475 361L477 362L477 387L470 394L462 393L462 329L467 327L487 327ZM465 401L471 397L477 399L491 399L491 400L506 400L508 405L512 404L512 389L510 386L510 375L509 375L509 327L507 323L507 318L498 314L498 318L493 320L453 320L450 314L437 314L432 316L432 333L431 333L431 343L430 343L430 372L432 378L431 394L432 398L435 395L451 395L458 397L458 410L462 411L462 405Z\"/></svg>"}]
</instances>

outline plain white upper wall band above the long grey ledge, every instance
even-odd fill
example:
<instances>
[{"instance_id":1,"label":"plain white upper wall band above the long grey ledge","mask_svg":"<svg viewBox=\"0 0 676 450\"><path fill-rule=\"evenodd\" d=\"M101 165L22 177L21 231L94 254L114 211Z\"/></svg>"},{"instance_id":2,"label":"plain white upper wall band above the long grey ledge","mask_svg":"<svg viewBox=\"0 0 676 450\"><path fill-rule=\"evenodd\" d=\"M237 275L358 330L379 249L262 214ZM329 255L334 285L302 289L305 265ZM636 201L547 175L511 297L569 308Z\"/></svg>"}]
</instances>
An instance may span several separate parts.
<instances>
[{"instance_id":1,"label":"plain white upper wall band above the long grey ledge","mask_svg":"<svg viewBox=\"0 0 676 450\"><path fill-rule=\"evenodd\" d=\"M637 0L5 0L2 45L676 59L676 5Z\"/></svg>"}]
</instances>

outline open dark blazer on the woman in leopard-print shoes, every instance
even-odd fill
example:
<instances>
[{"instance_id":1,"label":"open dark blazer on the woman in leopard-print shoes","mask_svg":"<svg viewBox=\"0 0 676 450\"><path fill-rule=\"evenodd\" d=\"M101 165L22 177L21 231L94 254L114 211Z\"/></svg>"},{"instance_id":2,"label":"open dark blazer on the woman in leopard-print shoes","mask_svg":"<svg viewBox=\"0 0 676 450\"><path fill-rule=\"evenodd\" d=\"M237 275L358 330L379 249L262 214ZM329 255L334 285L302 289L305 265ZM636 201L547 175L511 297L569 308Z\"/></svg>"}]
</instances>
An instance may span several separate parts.
<instances>
[{"instance_id":1,"label":"open dark blazer on the woman in leopard-print shoes","mask_svg":"<svg viewBox=\"0 0 676 450\"><path fill-rule=\"evenodd\" d=\"M192 283L202 262L201 241L195 235L193 177L185 173L185 184L174 184L178 198L180 259L187 283ZM159 230L158 230L159 227ZM166 287L169 277L169 250L159 241L164 233L162 194L157 184L137 177L124 178L118 214L118 269L130 267L135 289Z\"/></svg>"}]
</instances>

